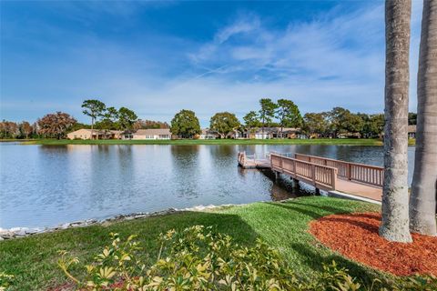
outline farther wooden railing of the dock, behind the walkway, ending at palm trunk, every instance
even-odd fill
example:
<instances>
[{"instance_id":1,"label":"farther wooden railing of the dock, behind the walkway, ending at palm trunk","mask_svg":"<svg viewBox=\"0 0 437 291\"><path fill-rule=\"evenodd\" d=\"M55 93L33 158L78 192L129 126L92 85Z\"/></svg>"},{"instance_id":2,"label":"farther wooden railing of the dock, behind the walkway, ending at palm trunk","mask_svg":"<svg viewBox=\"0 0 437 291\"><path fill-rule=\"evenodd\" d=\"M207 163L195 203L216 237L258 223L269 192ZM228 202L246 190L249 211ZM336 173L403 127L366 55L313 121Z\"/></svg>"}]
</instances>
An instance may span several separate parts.
<instances>
[{"instance_id":1,"label":"farther wooden railing of the dock, behind the walkway, ending at palm trunk","mask_svg":"<svg viewBox=\"0 0 437 291\"><path fill-rule=\"evenodd\" d=\"M384 168L359 163L351 163L320 156L294 154L294 158L322 166L331 166L337 169L338 176L362 184L382 187L384 183Z\"/></svg>"}]
</instances>

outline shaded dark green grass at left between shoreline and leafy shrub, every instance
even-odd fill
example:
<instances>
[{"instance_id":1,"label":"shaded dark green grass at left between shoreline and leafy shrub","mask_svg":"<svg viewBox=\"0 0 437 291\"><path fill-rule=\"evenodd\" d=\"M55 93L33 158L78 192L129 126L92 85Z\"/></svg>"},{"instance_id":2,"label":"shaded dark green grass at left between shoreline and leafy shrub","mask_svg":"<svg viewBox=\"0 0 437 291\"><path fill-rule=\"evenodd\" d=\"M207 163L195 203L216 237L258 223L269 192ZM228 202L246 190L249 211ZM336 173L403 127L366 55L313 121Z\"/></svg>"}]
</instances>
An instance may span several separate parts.
<instances>
[{"instance_id":1,"label":"shaded dark green grass at left between shoreline and leafy shrub","mask_svg":"<svg viewBox=\"0 0 437 291\"><path fill-rule=\"evenodd\" d=\"M109 226L71 228L53 233L28 236L0 242L0 269L15 276L10 290L46 290L60 286L68 280L56 265L57 251L64 249L78 256L82 265L90 264L104 246L111 243L109 234L118 233L127 238L137 235L143 248L140 258L153 263L158 256L158 236L169 229L182 230L189 226L213 226L214 232L228 234L239 245L253 246L258 235L237 215L180 212L167 216L150 216L143 219L115 222ZM84 276L85 269L73 266L77 276Z\"/></svg>"}]
</instances>

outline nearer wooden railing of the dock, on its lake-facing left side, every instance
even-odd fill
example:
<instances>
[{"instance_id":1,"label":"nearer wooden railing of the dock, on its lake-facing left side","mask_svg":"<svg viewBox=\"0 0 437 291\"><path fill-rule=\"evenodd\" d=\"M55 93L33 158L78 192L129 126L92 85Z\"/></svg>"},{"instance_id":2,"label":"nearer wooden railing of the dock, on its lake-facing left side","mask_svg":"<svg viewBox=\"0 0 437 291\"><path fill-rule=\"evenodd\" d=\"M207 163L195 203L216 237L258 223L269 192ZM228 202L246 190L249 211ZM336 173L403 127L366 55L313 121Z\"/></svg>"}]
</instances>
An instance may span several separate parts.
<instances>
[{"instance_id":1,"label":"nearer wooden railing of the dock, on its lake-facing left side","mask_svg":"<svg viewBox=\"0 0 437 291\"><path fill-rule=\"evenodd\" d=\"M284 154L270 153L271 169L322 190L335 190L337 169L303 161Z\"/></svg>"}]
</instances>

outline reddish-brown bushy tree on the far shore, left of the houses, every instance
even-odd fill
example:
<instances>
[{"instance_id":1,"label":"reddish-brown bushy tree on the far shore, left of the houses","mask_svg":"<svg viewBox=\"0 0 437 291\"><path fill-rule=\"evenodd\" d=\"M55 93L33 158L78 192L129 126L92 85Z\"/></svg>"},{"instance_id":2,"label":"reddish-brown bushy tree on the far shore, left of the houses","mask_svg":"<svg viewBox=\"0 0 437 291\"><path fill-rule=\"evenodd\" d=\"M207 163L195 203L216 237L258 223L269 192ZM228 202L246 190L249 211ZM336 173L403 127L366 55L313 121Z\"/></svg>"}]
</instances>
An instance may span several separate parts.
<instances>
[{"instance_id":1,"label":"reddish-brown bushy tree on the far shore, left of the houses","mask_svg":"<svg viewBox=\"0 0 437 291\"><path fill-rule=\"evenodd\" d=\"M76 124L76 119L66 113L56 112L55 114L48 114L38 119L37 124L40 135L60 139L66 135L66 131L71 126Z\"/></svg>"}]
</instances>

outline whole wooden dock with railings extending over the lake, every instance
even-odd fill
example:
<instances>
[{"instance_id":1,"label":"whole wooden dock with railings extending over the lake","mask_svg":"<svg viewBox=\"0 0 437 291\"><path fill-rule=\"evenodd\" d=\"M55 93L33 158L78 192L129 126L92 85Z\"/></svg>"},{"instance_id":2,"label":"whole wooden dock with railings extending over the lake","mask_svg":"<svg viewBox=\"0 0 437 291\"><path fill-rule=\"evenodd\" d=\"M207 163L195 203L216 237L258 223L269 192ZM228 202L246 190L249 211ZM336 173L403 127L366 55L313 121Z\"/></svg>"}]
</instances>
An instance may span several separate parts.
<instances>
[{"instance_id":1,"label":"whole wooden dock with railings extending over the lake","mask_svg":"<svg viewBox=\"0 0 437 291\"><path fill-rule=\"evenodd\" d=\"M269 168L290 176L332 195L358 196L361 200L381 202L384 168L350 163L321 156L280 154L271 152L265 157L239 153L243 168Z\"/></svg>"}]
</instances>

